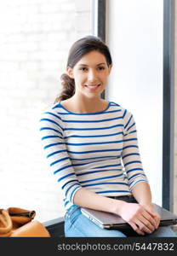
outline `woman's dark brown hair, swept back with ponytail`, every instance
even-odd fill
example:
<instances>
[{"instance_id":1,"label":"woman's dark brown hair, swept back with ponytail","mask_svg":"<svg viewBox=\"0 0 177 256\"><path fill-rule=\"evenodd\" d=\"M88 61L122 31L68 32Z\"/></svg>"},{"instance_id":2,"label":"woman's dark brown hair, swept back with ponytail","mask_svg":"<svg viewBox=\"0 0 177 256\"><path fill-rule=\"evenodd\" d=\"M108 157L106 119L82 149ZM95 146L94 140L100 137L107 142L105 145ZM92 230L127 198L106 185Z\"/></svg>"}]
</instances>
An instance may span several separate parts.
<instances>
[{"instance_id":1,"label":"woman's dark brown hair, swept back with ponytail","mask_svg":"<svg viewBox=\"0 0 177 256\"><path fill-rule=\"evenodd\" d=\"M73 68L77 61L79 61L83 55L88 54L92 50L99 51L102 55L105 55L108 67L112 64L110 50L104 44L100 38L94 36L87 36L77 40L72 44L69 51L67 67ZM54 103L64 101L71 98L75 94L75 81L71 79L66 73L60 76L62 90L60 95L56 97Z\"/></svg>"}]
</instances>

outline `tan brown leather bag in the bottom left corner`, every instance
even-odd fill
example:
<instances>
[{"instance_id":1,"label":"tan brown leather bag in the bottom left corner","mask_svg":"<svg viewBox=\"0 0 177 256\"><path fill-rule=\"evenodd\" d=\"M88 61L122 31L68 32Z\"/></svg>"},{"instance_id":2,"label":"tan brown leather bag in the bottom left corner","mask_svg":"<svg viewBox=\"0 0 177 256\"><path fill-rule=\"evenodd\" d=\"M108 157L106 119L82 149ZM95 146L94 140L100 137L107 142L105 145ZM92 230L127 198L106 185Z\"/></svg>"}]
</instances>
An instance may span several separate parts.
<instances>
[{"instance_id":1,"label":"tan brown leather bag in the bottom left corner","mask_svg":"<svg viewBox=\"0 0 177 256\"><path fill-rule=\"evenodd\" d=\"M0 237L50 237L49 231L37 220L35 211L19 207L0 209Z\"/></svg>"}]
</instances>

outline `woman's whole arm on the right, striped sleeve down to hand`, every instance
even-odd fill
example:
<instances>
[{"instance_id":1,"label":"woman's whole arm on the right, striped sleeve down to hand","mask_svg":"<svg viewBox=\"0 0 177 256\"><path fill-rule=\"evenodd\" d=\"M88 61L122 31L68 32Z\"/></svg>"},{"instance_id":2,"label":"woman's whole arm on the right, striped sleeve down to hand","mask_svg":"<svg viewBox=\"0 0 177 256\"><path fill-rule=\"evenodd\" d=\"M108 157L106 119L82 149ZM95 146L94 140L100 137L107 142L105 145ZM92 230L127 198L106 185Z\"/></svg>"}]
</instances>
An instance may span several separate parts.
<instances>
[{"instance_id":1,"label":"woman's whole arm on the right, striped sleeve down to hand","mask_svg":"<svg viewBox=\"0 0 177 256\"><path fill-rule=\"evenodd\" d=\"M151 214L159 225L160 217L151 203L151 189L143 170L138 147L138 137L134 117L127 110L123 112L123 165L128 176L129 189L140 206Z\"/></svg>"}]
</instances>

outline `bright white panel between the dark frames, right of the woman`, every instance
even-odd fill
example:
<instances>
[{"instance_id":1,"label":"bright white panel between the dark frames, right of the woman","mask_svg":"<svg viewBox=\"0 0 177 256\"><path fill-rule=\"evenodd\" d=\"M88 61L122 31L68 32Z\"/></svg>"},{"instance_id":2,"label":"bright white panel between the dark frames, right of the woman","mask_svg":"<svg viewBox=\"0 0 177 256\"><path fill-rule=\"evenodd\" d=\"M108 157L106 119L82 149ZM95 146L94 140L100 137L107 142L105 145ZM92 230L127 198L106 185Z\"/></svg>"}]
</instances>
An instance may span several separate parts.
<instances>
[{"instance_id":1,"label":"bright white panel between the dark frames, right of the woman","mask_svg":"<svg viewBox=\"0 0 177 256\"><path fill-rule=\"evenodd\" d=\"M153 201L162 205L163 1L107 1L113 68L106 98L134 114Z\"/></svg>"}]
</instances>

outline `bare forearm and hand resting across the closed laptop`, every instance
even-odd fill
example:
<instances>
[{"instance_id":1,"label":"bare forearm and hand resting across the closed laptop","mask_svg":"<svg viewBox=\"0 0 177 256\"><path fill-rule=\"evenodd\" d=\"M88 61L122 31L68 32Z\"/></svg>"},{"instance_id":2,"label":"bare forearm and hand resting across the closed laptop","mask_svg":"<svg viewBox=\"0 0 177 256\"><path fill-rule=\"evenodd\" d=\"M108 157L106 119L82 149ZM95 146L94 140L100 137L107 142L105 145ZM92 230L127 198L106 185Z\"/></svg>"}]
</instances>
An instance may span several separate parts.
<instances>
[{"instance_id":1,"label":"bare forearm and hand resting across the closed laptop","mask_svg":"<svg viewBox=\"0 0 177 256\"><path fill-rule=\"evenodd\" d=\"M135 203L115 200L102 195L96 195L88 189L78 189L74 195L74 204L80 207L111 212L121 216L140 235L155 230L155 221L145 207Z\"/></svg>"}]
</instances>

